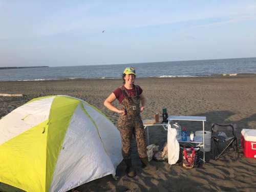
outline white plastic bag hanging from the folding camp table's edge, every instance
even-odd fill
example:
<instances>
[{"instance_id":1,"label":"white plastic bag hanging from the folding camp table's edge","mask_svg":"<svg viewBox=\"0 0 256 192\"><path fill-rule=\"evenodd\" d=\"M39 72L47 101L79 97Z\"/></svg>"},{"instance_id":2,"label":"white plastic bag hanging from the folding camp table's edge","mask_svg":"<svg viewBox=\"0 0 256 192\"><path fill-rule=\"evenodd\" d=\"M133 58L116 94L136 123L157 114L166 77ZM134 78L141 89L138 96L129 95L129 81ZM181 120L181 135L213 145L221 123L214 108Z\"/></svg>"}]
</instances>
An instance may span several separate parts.
<instances>
[{"instance_id":1,"label":"white plastic bag hanging from the folding camp table's edge","mask_svg":"<svg viewBox=\"0 0 256 192\"><path fill-rule=\"evenodd\" d=\"M180 144L176 139L177 130L172 128L170 124L167 124L168 134L167 134L167 150L168 150L168 163L173 165L177 163L180 155Z\"/></svg>"}]
</instances>

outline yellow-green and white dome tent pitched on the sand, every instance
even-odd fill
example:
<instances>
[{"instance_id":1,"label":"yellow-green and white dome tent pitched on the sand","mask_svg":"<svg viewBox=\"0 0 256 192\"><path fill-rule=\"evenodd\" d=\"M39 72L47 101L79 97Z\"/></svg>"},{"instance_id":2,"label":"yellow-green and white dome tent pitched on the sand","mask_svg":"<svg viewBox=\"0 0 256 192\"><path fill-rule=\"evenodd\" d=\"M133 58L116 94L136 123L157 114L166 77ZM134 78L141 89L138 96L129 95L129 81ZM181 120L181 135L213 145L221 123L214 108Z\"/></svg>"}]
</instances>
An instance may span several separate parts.
<instances>
[{"instance_id":1,"label":"yellow-green and white dome tent pitched on the sand","mask_svg":"<svg viewBox=\"0 0 256 192\"><path fill-rule=\"evenodd\" d=\"M0 120L0 182L25 191L67 191L121 161L115 125L83 100L40 97Z\"/></svg>"}]
</instances>

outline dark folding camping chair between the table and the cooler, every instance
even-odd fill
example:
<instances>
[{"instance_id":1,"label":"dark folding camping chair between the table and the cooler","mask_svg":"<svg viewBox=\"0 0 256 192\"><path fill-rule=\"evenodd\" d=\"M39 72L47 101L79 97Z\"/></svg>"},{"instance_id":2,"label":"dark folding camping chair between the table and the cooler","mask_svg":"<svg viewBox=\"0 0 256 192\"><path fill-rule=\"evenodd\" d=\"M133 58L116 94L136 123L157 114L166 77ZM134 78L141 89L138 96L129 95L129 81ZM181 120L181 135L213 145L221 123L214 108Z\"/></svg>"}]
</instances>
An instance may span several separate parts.
<instances>
[{"instance_id":1,"label":"dark folding camping chair between the table and the cooler","mask_svg":"<svg viewBox=\"0 0 256 192\"><path fill-rule=\"evenodd\" d=\"M217 160L219 157L231 152L233 158L236 158L238 152L238 143L235 132L237 124L211 124L211 143L212 156Z\"/></svg>"}]
</instances>

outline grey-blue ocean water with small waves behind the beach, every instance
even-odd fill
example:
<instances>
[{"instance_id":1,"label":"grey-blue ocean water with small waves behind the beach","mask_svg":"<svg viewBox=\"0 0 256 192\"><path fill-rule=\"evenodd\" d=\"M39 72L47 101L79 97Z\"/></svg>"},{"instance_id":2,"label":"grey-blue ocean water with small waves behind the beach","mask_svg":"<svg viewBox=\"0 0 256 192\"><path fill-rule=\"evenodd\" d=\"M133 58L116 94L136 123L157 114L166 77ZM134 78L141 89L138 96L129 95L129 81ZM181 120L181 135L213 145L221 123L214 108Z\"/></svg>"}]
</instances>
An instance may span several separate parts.
<instances>
[{"instance_id":1,"label":"grey-blue ocean water with small waves behind the beach","mask_svg":"<svg viewBox=\"0 0 256 192\"><path fill-rule=\"evenodd\" d=\"M0 70L0 81L111 79L121 78L125 67L133 66L141 77L199 77L223 74L256 74L256 57L129 63L122 65L21 68Z\"/></svg>"}]
</instances>

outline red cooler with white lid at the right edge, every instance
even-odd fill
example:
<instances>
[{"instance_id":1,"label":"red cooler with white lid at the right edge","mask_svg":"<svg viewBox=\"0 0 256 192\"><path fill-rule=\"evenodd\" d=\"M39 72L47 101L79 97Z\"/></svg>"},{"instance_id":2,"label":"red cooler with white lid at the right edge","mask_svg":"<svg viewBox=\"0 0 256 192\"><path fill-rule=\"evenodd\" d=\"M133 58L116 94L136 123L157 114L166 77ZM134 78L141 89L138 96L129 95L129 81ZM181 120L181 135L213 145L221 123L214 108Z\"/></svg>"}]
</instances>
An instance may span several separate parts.
<instances>
[{"instance_id":1,"label":"red cooler with white lid at the right edge","mask_svg":"<svg viewBox=\"0 0 256 192\"><path fill-rule=\"evenodd\" d=\"M241 145L244 156L247 158L256 158L256 130L243 129L241 134Z\"/></svg>"}]
</instances>

